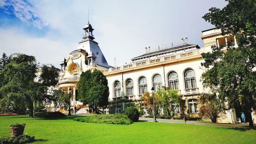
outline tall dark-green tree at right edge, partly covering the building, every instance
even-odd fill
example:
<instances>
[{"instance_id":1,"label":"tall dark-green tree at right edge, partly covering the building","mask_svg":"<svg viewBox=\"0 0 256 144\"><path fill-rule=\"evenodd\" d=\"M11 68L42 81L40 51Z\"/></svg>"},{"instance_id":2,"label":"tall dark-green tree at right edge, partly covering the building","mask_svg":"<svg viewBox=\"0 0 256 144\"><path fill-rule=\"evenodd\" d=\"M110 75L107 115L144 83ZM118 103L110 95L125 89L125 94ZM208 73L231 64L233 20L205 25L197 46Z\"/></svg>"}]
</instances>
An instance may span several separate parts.
<instances>
[{"instance_id":1,"label":"tall dark-green tree at right edge, partly covering the building","mask_svg":"<svg viewBox=\"0 0 256 144\"><path fill-rule=\"evenodd\" d=\"M202 54L206 68L202 75L204 87L210 88L218 99L227 102L227 110L241 106L247 114L250 128L253 127L251 109L255 106L256 94L256 49L255 23L256 4L254 0L229 0L223 9L210 8L203 18L222 30L222 34L237 37L239 47L227 45L212 47L211 53Z\"/></svg>"}]
</instances>

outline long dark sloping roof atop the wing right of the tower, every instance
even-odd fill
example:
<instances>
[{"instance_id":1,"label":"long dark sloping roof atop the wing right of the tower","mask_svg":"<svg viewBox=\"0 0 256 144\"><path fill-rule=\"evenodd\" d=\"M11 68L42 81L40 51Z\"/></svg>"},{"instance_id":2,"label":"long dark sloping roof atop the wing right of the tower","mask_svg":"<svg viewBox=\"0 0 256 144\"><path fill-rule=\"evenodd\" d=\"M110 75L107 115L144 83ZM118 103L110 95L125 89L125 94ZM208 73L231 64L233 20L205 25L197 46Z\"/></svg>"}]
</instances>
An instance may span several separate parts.
<instances>
[{"instance_id":1,"label":"long dark sloping roof atop the wing right of the tower","mask_svg":"<svg viewBox=\"0 0 256 144\"><path fill-rule=\"evenodd\" d=\"M138 57L132 58L132 61L142 60L145 58L150 58L150 57L155 57L155 56L166 55L166 54L184 51L184 50L188 50L188 49L200 49L200 47L197 44L184 44L184 45L180 45L180 46L170 47L170 48L167 48L164 50L159 50L156 52L146 53L146 54L140 55Z\"/></svg>"}]
</instances>

